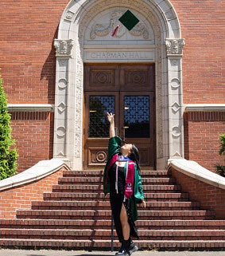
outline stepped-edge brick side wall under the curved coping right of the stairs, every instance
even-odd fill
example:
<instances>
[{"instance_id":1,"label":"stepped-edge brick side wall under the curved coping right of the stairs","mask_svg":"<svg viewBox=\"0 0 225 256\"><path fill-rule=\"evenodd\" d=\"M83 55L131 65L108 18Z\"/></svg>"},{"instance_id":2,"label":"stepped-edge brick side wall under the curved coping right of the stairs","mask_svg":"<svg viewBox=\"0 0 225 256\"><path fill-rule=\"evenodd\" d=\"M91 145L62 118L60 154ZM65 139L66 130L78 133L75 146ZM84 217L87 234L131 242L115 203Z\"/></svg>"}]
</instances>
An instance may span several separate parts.
<instances>
[{"instance_id":1,"label":"stepped-edge brick side wall under the curved coping right of the stairs","mask_svg":"<svg viewBox=\"0 0 225 256\"><path fill-rule=\"evenodd\" d=\"M225 218L225 190L193 179L170 168L183 192L189 193L191 200L200 202L201 209L214 210L216 219Z\"/></svg>"}]
</instances>

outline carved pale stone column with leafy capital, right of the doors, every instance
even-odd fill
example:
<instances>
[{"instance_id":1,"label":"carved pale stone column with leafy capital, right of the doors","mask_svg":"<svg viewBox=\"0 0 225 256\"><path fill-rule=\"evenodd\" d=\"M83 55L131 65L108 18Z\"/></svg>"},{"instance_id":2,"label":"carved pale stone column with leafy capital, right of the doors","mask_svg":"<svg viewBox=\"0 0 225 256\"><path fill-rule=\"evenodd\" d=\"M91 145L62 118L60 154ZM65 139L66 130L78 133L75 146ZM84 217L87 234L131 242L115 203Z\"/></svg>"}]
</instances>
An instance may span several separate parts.
<instances>
[{"instance_id":1,"label":"carved pale stone column with leafy capital, right of the doors","mask_svg":"<svg viewBox=\"0 0 225 256\"><path fill-rule=\"evenodd\" d=\"M166 39L169 93L169 159L184 157L182 49L184 39Z\"/></svg>"}]
</instances>

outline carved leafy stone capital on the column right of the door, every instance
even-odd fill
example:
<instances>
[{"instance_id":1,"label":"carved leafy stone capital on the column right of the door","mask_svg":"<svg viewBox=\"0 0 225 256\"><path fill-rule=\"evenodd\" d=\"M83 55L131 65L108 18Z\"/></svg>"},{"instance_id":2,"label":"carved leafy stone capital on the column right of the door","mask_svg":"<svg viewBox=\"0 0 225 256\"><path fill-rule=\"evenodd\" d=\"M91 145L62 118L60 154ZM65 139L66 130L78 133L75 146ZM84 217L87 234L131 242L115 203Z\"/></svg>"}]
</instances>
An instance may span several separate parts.
<instances>
[{"instance_id":1,"label":"carved leafy stone capital on the column right of the door","mask_svg":"<svg viewBox=\"0 0 225 256\"><path fill-rule=\"evenodd\" d=\"M180 39L166 39L165 47L167 56L180 56L183 53L184 38Z\"/></svg>"}]
</instances>

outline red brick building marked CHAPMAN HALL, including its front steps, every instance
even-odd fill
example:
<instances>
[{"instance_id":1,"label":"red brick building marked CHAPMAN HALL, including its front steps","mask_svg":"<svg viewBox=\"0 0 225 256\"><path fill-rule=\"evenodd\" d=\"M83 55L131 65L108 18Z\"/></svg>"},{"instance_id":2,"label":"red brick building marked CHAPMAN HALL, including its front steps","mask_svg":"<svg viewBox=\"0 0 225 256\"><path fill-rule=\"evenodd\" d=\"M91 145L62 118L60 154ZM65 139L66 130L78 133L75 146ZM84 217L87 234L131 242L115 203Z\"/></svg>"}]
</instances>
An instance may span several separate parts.
<instances>
[{"instance_id":1,"label":"red brick building marked CHAPMAN HALL, including its front steps","mask_svg":"<svg viewBox=\"0 0 225 256\"><path fill-rule=\"evenodd\" d=\"M141 154L138 246L224 250L224 1L0 2L20 172L0 182L0 247L118 246L102 189L114 112Z\"/></svg>"}]
</instances>

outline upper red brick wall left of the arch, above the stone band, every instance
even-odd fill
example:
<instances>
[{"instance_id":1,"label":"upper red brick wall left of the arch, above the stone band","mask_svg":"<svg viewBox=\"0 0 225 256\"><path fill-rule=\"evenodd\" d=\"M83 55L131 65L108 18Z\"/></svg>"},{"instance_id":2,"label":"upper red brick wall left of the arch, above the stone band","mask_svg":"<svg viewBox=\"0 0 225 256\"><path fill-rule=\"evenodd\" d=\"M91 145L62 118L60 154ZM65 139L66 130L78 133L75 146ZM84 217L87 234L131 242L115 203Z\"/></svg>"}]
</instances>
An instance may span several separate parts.
<instances>
[{"instance_id":1,"label":"upper red brick wall left of the arch, above the stone band","mask_svg":"<svg viewBox=\"0 0 225 256\"><path fill-rule=\"evenodd\" d=\"M0 1L0 65L9 103L54 103L52 42L68 2Z\"/></svg>"}]
</instances>

